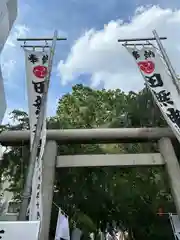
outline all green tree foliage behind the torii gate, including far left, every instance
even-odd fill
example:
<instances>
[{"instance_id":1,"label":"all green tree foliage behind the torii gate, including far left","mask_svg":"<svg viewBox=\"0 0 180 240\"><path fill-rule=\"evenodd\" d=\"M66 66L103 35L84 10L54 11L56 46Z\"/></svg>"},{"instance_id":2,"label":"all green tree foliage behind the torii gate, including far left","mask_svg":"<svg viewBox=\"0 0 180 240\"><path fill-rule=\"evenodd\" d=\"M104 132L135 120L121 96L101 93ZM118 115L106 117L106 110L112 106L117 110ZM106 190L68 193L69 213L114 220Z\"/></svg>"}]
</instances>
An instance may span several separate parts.
<instances>
[{"instance_id":1,"label":"all green tree foliage behind the torii gate, including far left","mask_svg":"<svg viewBox=\"0 0 180 240\"><path fill-rule=\"evenodd\" d=\"M15 110L14 126L28 129L26 113ZM125 94L120 90L94 90L81 84L60 100L55 117L47 120L48 128L122 128L166 126L150 93ZM23 143L22 143L23 144ZM5 154L3 175L11 180L10 189L19 196L28 164L29 146L11 148ZM58 154L107 154L157 151L147 144L71 144L59 145ZM22 161L23 159L23 161ZM159 218L161 206L174 212L173 199L163 168L88 167L56 170L54 202L61 206L84 231L105 228L111 220L133 231L135 239L170 239L166 218ZM57 209L52 207L52 232Z\"/></svg>"}]
</instances>

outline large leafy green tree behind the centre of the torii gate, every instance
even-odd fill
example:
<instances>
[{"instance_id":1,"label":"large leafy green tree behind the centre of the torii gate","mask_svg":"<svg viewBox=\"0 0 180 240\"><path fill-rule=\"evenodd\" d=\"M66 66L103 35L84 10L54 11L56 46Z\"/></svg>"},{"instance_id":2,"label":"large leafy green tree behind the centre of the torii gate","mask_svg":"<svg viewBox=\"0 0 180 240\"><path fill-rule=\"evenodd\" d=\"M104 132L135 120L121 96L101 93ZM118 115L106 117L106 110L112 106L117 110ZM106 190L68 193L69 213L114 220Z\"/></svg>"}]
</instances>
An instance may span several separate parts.
<instances>
[{"instance_id":1,"label":"large leafy green tree behind the centre of the torii gate","mask_svg":"<svg viewBox=\"0 0 180 240\"><path fill-rule=\"evenodd\" d=\"M166 126L147 89L139 94L130 92L125 95L119 90L99 91L83 85L76 85L71 94L60 99L57 119L56 122L61 124L61 128ZM89 152L87 145L76 145L73 150L71 147L67 146L68 151L72 151L71 153L74 154ZM62 149L63 147L59 149L60 154L66 152ZM90 145L90 149L92 153L102 153L102 151L112 153L114 150L116 153L148 152L157 151L157 146L153 143L111 144L110 146L104 144L93 145L93 147ZM69 181L69 187L61 190L62 195L67 196L64 204L67 201L70 201L70 206L77 204L76 208L86 212L96 224L101 219L104 219L105 222L115 218L118 220L120 215L124 225L131 226L138 238L145 236L149 239L152 236L154 238L155 226L163 226L163 224L157 224L159 218L157 218L156 211L159 205L163 204L166 209L173 209L172 198L166 187L167 183L164 183L162 169L131 169L126 172L126 170L118 168L81 168L66 169L66 172L64 169L57 171L57 174L61 176L61 182L57 181L57 186L58 182L62 185L62 182L68 183ZM112 181L115 173L117 173L116 183ZM158 183L153 176L154 178L156 176L155 179L157 176L160 178ZM123 193L123 196L118 194L119 191ZM92 207L94 196L97 196L96 204ZM151 202L153 204L149 206ZM60 204L63 204L63 200ZM152 225L152 220L154 225ZM142 226L145 225L143 230L139 227L140 223ZM169 237L164 231L161 234L158 233L158 238L160 235L163 238L165 235Z\"/></svg>"}]
</instances>

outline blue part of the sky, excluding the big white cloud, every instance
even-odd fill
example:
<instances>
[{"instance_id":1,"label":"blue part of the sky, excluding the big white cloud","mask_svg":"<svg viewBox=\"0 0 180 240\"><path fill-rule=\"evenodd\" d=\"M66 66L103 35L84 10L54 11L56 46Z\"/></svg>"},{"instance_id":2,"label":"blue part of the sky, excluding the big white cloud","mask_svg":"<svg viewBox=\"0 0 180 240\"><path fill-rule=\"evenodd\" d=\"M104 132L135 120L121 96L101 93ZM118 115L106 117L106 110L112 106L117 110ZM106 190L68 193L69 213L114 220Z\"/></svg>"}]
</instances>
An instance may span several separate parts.
<instances>
[{"instance_id":1,"label":"blue part of the sky, excluding the big white cloud","mask_svg":"<svg viewBox=\"0 0 180 240\"><path fill-rule=\"evenodd\" d=\"M61 70L57 70L59 61L62 61L62 65L66 67L67 71L68 66L70 66L71 63L73 64L73 61L70 59L74 56L72 47L76 47L77 42L82 40L85 32L94 29L92 34L93 37L95 37L98 32L104 30L105 24L108 25L109 30L107 31L110 32L110 28L112 28L110 22L113 21L116 23L118 19L125 21L130 26L132 16L134 16L136 9L147 5L159 5L161 11L158 11L161 12L161 15L163 15L166 9L170 9L172 12L176 11L176 13L178 13L180 9L179 0L19 0L18 17L1 56L1 63L4 66L3 76L8 105L7 112L15 108L27 110L24 55L20 44L16 42L18 35L26 37L50 37L53 35L53 30L57 29L60 36L68 38L65 42L57 43L54 58L48 102L48 115L54 115L57 100L63 94L71 91L72 84L81 82L91 85L92 77L92 71L89 70L92 68L88 68L88 66L79 74L75 74L73 81L67 80L66 84L63 84L61 81L61 73L63 73L62 66L60 67ZM151 8L151 6L149 6L148 9ZM172 19L175 17L175 14L171 15ZM179 21L179 15L177 19ZM118 26L120 25L121 24ZM140 33L141 32L139 32L139 34ZM108 52L108 54L111 55L110 52ZM82 54L80 53L79 56L80 55ZM170 55L172 54L170 53ZM82 55L84 58L88 58L88 56L88 54ZM78 56L76 56L76 59L77 57ZM9 65L11 66L10 69ZM74 65L76 64L74 63ZM81 69L81 65L78 65L78 69ZM86 69L88 70L86 71ZM74 74L75 70L73 69L72 71ZM93 79L97 79L99 76L98 72L97 74L93 72L93 74ZM106 85L105 82L101 81L101 83L96 84L95 87L106 87ZM112 88L114 87L115 85L112 86Z\"/></svg>"}]
</instances>

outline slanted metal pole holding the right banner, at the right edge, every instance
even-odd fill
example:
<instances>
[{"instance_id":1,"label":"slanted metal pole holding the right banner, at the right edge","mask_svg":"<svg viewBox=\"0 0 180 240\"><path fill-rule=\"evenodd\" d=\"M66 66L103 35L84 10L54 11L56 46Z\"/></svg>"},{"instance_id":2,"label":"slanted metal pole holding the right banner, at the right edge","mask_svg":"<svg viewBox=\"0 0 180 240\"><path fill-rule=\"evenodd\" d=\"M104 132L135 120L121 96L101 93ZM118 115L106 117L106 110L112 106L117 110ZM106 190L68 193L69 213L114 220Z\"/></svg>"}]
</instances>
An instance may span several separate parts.
<instances>
[{"instance_id":1,"label":"slanted metal pole holding the right banner, at the right edge","mask_svg":"<svg viewBox=\"0 0 180 240\"><path fill-rule=\"evenodd\" d=\"M173 83L174 83L174 85L176 86L176 89L177 89L178 93L180 94L178 79L177 79L175 70L174 70L174 68L173 68L173 66L172 66L172 64L171 64L171 62L170 62L170 60L169 60L169 57L168 57L168 55L167 55L167 53L166 53L166 51L165 51L165 49L164 49L164 47L163 47L163 45L162 45L162 43L161 43L161 40L160 40L160 38L159 38L156 30L153 30L153 35L154 35L154 37L155 37L155 39L156 39L157 45L158 45L158 47L159 47L159 50L160 50L161 53L162 53L163 59L164 59L166 65L167 65L167 67L168 67L168 69L169 69L169 72L171 73Z\"/></svg>"}]
</instances>

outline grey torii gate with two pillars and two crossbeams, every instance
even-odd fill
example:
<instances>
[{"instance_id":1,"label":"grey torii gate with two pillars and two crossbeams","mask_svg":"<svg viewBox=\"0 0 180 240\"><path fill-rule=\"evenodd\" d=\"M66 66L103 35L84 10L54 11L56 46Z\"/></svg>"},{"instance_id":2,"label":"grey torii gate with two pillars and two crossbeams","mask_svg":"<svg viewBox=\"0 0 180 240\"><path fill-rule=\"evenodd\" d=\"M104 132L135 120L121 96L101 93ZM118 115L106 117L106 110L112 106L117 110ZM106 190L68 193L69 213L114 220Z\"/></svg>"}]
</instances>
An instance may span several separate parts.
<instances>
[{"instance_id":1,"label":"grey torii gate with two pillars and two crossbeams","mask_svg":"<svg viewBox=\"0 0 180 240\"><path fill-rule=\"evenodd\" d=\"M43 209L41 240L49 239L51 206L55 167L87 166L157 166L165 165L176 210L180 217L180 166L171 139L175 136L169 128L118 128L118 129L67 129L47 130L47 143L43 161ZM4 146L22 145L30 139L29 131L5 131L0 134ZM157 141L159 153L66 155L57 156L57 143L132 143Z\"/></svg>"}]
</instances>

